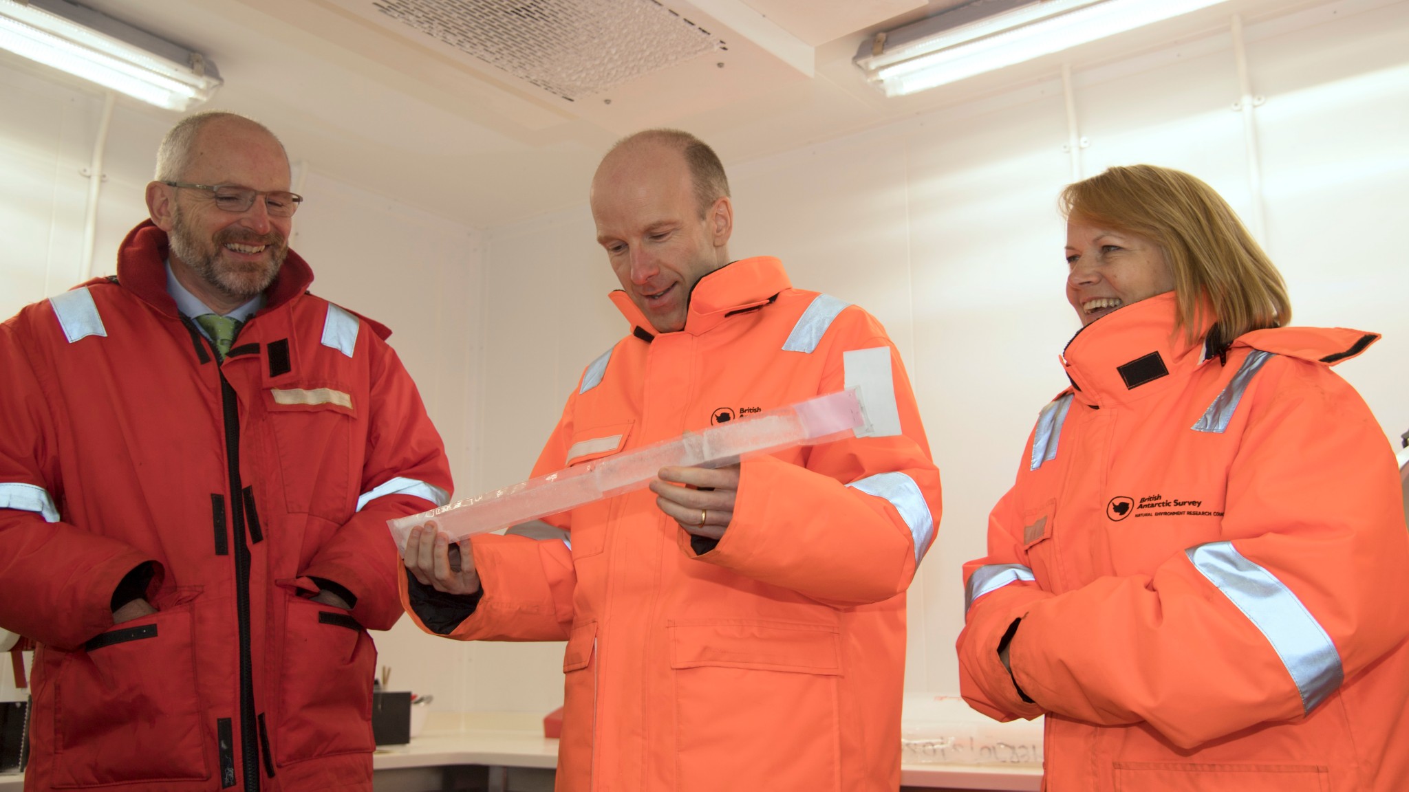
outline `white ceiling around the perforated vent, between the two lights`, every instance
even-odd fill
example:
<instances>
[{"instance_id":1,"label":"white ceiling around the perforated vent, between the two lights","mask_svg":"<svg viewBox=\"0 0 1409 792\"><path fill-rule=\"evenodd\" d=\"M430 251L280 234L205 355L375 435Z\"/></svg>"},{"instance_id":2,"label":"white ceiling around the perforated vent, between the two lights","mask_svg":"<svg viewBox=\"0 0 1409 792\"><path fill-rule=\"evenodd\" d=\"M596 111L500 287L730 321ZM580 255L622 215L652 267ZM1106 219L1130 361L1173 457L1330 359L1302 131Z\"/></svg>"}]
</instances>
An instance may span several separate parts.
<instances>
[{"instance_id":1,"label":"white ceiling around the perforated vent, between the two lights","mask_svg":"<svg viewBox=\"0 0 1409 792\"><path fill-rule=\"evenodd\" d=\"M211 107L259 118L310 169L483 228L582 203L602 152L633 130L685 128L737 163L1317 0L1229 0L892 100L851 63L858 45L965 0L662 0L728 49L573 103L382 24L371 0L80 1L214 61L225 85Z\"/></svg>"}]
</instances>

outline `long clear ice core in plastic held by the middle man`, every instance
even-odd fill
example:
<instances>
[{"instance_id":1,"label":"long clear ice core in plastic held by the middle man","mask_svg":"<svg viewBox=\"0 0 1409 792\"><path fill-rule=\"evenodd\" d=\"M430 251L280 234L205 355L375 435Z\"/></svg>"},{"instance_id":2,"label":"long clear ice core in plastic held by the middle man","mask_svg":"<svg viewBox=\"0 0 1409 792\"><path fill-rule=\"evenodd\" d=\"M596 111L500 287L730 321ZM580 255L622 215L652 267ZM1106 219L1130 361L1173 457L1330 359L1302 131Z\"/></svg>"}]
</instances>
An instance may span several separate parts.
<instances>
[{"instance_id":1,"label":"long clear ice core in plastic held by the middle man","mask_svg":"<svg viewBox=\"0 0 1409 792\"><path fill-rule=\"evenodd\" d=\"M403 551L411 528L431 519L461 541L641 489L665 466L720 468L796 445L864 437L868 430L859 390L852 388L387 520L386 526Z\"/></svg>"}]
</instances>

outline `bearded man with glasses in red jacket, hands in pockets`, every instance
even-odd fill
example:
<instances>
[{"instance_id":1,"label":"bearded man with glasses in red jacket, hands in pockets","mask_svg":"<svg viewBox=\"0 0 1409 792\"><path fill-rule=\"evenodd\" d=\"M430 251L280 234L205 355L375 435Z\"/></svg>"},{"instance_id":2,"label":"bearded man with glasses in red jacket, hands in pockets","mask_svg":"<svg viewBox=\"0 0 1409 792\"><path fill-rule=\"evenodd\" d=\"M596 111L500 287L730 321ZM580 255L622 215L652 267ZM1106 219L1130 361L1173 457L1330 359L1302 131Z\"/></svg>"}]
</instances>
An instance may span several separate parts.
<instances>
[{"instance_id":1,"label":"bearded man with glasses in red jacket, hands in pockets","mask_svg":"<svg viewBox=\"0 0 1409 792\"><path fill-rule=\"evenodd\" d=\"M449 465L389 331L307 292L283 145L180 121L117 276L0 324L0 627L27 788L372 788L386 520Z\"/></svg>"}]
</instances>

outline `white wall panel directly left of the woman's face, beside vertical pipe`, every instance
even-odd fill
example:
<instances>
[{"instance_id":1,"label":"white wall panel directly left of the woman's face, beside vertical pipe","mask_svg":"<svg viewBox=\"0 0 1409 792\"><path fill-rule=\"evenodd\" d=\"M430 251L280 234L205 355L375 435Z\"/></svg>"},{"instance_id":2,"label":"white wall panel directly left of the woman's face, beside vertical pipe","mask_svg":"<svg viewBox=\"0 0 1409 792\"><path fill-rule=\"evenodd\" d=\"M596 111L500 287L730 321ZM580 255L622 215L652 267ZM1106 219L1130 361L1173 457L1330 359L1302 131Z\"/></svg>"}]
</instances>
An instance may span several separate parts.
<instances>
[{"instance_id":1,"label":"white wall panel directly left of the woman's face, beside vertical pipe","mask_svg":"<svg viewBox=\"0 0 1409 792\"><path fill-rule=\"evenodd\" d=\"M1054 189L1069 176L1061 94L967 118L926 120L910 135L916 396L940 465L944 516L926 559L924 655L909 689L957 679L960 564L982 555L988 509L1012 483L1037 409L1060 390L1048 376L1065 335L1065 264Z\"/></svg>"}]
</instances>

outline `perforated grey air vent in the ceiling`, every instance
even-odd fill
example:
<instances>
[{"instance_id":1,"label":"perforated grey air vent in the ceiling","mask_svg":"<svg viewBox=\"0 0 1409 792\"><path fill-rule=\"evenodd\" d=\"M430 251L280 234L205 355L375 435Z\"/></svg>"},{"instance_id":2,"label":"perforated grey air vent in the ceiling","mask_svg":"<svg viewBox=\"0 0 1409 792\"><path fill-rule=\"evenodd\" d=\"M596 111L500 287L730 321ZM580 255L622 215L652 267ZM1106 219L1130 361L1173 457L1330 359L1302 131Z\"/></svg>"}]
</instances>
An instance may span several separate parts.
<instances>
[{"instance_id":1,"label":"perforated grey air vent in the ceiling","mask_svg":"<svg viewBox=\"0 0 1409 792\"><path fill-rule=\"evenodd\" d=\"M376 0L372 6L569 101L727 49L655 0Z\"/></svg>"}]
</instances>

